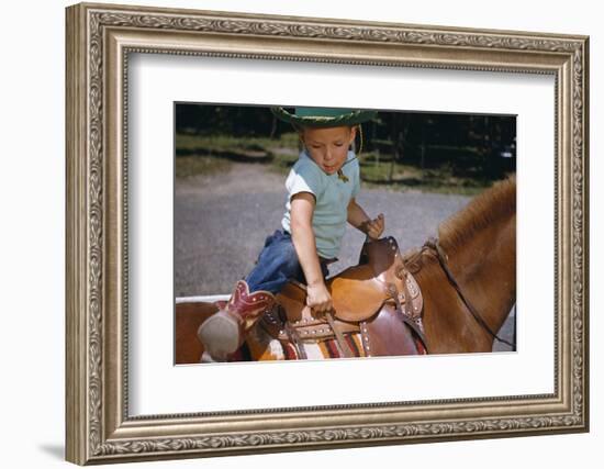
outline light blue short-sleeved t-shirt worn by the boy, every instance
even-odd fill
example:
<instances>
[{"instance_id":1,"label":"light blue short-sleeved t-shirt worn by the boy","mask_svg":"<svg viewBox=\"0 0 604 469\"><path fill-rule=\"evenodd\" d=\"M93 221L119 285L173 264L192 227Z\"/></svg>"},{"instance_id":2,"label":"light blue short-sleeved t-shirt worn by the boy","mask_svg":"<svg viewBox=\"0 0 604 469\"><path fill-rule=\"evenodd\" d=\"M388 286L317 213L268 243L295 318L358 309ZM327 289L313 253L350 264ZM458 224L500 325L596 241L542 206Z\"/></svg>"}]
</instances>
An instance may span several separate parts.
<instances>
[{"instance_id":1,"label":"light blue short-sleeved t-shirt worn by the boy","mask_svg":"<svg viewBox=\"0 0 604 469\"><path fill-rule=\"evenodd\" d=\"M286 180L288 200L281 225L291 233L291 198L300 192L315 197L313 231L316 250L321 257L337 257L348 219L348 203L360 190L359 161L354 152L348 152L342 171L348 178L343 181L337 174L327 175L304 150L293 165Z\"/></svg>"}]
</instances>

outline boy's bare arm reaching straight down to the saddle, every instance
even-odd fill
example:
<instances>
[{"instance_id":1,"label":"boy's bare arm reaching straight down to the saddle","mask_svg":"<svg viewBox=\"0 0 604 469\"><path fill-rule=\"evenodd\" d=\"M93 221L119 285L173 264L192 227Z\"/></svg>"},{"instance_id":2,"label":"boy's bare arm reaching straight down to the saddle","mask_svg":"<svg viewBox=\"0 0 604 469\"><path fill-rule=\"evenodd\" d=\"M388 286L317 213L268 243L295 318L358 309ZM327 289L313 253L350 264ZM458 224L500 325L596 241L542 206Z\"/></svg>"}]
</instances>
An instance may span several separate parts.
<instances>
[{"instance_id":1,"label":"boy's bare arm reaching straight down to the saddle","mask_svg":"<svg viewBox=\"0 0 604 469\"><path fill-rule=\"evenodd\" d=\"M310 192L299 192L291 199L291 237L307 283L306 304L318 312L332 309L332 297L325 287L316 254L312 220L315 200Z\"/></svg>"}]
</instances>

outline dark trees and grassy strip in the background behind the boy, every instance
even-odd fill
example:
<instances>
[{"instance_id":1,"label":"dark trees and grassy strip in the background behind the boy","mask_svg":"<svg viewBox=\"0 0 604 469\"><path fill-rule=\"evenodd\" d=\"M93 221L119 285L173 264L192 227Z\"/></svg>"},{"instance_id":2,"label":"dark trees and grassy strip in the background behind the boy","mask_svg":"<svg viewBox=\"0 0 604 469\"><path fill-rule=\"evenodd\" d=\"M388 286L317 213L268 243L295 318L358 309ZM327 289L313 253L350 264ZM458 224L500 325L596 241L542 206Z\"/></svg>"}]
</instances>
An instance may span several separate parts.
<instances>
[{"instance_id":1,"label":"dark trees and grassy strip in the background behind the boy","mask_svg":"<svg viewBox=\"0 0 604 469\"><path fill-rule=\"evenodd\" d=\"M267 107L175 108L178 177L234 160L286 172L298 158L298 135ZM380 111L362 125L361 177L399 190L473 193L515 171L515 137L510 115Z\"/></svg>"}]
</instances>

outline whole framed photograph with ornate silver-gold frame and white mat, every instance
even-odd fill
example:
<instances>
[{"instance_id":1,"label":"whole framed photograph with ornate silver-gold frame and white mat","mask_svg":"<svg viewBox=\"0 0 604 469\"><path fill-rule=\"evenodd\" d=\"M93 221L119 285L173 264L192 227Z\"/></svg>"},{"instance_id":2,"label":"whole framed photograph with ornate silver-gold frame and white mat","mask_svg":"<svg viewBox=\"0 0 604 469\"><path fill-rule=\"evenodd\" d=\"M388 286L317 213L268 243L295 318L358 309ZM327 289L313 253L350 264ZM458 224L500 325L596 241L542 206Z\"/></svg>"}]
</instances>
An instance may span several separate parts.
<instances>
[{"instance_id":1,"label":"whole framed photograph with ornate silver-gold frame and white mat","mask_svg":"<svg viewBox=\"0 0 604 469\"><path fill-rule=\"evenodd\" d=\"M69 461L589 429L588 37L66 24Z\"/></svg>"}]
</instances>

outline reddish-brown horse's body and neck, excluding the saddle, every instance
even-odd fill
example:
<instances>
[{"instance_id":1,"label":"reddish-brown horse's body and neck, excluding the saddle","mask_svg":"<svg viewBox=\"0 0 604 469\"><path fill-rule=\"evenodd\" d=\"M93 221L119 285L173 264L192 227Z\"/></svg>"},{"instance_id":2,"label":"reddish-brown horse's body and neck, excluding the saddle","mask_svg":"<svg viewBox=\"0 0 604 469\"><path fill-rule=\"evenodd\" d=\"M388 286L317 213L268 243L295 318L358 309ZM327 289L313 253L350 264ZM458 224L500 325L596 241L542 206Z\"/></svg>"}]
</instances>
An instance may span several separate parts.
<instances>
[{"instance_id":1,"label":"reddish-brown horse's body and neck, excluding the saddle","mask_svg":"<svg viewBox=\"0 0 604 469\"><path fill-rule=\"evenodd\" d=\"M493 333L516 295L515 178L496 183L445 221L438 237L441 261L427 245L403 255L424 295L427 348L430 354L491 351ZM215 311L212 303L177 304L177 364L199 362L203 347L197 331Z\"/></svg>"}]
</instances>

